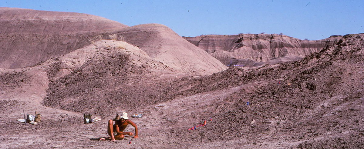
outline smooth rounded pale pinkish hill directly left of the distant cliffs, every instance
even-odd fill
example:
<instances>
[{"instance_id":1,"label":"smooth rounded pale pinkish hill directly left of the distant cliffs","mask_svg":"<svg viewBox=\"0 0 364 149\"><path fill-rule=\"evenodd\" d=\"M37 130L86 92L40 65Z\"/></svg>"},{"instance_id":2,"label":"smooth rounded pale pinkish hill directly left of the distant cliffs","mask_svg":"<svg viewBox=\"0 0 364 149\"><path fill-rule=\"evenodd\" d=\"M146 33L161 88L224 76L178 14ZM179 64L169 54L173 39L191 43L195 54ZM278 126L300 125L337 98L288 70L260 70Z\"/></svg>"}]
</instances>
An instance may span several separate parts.
<instances>
[{"instance_id":1,"label":"smooth rounded pale pinkish hill directly left of the distant cliffs","mask_svg":"<svg viewBox=\"0 0 364 149\"><path fill-rule=\"evenodd\" d=\"M150 57L177 72L209 75L225 70L223 64L161 24L142 24L124 28L127 43L136 45Z\"/></svg>"}]
</instances>

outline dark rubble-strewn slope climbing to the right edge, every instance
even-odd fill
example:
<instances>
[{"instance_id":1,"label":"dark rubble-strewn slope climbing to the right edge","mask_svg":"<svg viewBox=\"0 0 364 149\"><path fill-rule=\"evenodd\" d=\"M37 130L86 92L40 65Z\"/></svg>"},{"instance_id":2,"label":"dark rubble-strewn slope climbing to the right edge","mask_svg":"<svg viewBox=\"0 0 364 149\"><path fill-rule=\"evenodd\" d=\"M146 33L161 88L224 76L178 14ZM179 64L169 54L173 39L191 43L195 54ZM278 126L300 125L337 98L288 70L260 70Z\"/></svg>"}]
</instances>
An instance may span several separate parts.
<instances>
[{"instance_id":1,"label":"dark rubble-strewn slope climbing to the right edge","mask_svg":"<svg viewBox=\"0 0 364 149\"><path fill-rule=\"evenodd\" d=\"M169 136L186 142L249 140L253 148L363 148L363 48L363 34L345 35L300 61L201 78L205 85L191 89L242 89L209 105L209 111L193 105L198 110L187 115L215 122L197 130L175 128ZM255 83L261 85L244 88Z\"/></svg>"}]
</instances>

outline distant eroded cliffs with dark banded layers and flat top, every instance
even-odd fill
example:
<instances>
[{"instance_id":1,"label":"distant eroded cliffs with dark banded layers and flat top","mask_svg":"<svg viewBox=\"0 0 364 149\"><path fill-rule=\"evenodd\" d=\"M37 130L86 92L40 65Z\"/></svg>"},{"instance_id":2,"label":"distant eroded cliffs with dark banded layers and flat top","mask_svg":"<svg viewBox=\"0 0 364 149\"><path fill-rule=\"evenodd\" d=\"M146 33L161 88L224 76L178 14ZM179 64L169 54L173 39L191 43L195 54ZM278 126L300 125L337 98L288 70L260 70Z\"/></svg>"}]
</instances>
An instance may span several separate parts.
<instances>
[{"instance_id":1,"label":"distant eroded cliffs with dark banded layers and flat top","mask_svg":"<svg viewBox=\"0 0 364 149\"><path fill-rule=\"evenodd\" d=\"M319 52L341 36L308 41L277 34L201 35L183 37L227 66L261 67L295 61Z\"/></svg>"}]
</instances>

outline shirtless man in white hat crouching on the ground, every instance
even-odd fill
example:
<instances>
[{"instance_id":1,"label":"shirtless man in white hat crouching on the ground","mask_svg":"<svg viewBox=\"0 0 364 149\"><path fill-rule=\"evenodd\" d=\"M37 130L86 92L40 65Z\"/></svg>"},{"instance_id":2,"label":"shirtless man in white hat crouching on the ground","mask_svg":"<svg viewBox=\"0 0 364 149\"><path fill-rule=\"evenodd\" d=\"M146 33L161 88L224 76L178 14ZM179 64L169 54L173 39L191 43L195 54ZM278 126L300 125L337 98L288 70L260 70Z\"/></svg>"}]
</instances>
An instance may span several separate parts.
<instances>
[{"instance_id":1,"label":"shirtless man in white hat crouching on the ground","mask_svg":"<svg viewBox=\"0 0 364 149\"><path fill-rule=\"evenodd\" d=\"M138 127L135 125L134 122L129 120L128 113L123 112L120 119L115 118L115 124L113 120L109 120L109 123L107 124L107 134L111 137L107 138L100 138L100 140L122 140L124 138L124 135L133 136L132 132L123 132L126 126L132 125L135 128L135 136L134 138L138 138Z\"/></svg>"}]
</instances>

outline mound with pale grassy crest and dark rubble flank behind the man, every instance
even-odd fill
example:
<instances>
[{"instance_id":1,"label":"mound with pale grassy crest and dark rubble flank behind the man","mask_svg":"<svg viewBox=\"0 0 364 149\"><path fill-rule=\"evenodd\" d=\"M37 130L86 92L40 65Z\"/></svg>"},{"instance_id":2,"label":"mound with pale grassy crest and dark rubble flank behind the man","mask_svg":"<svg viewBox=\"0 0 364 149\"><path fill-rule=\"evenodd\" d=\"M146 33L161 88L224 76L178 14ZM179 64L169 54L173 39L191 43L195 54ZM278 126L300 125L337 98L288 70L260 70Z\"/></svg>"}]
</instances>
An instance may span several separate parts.
<instances>
[{"instance_id":1,"label":"mound with pale grassy crest and dark rubble flank behind the man","mask_svg":"<svg viewBox=\"0 0 364 149\"><path fill-rule=\"evenodd\" d=\"M72 112L108 116L165 101L178 87L172 69L122 41L101 40L42 65L51 81L43 104Z\"/></svg>"}]
</instances>

